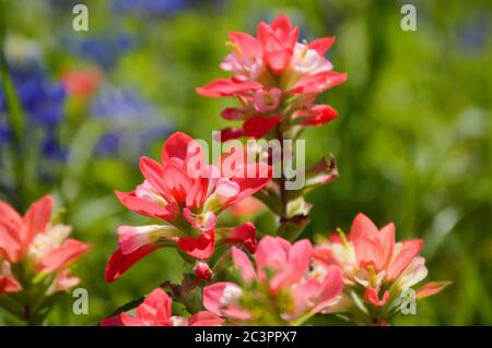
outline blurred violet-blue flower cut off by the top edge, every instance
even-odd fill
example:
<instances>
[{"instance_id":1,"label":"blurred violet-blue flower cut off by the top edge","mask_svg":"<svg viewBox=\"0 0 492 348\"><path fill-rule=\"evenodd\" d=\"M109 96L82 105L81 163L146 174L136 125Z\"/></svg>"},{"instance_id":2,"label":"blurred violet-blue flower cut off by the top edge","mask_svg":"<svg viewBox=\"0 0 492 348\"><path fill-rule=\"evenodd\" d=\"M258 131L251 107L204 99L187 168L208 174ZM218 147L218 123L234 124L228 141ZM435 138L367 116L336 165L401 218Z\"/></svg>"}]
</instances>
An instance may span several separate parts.
<instances>
[{"instance_id":1,"label":"blurred violet-blue flower cut off by the top edge","mask_svg":"<svg viewBox=\"0 0 492 348\"><path fill-rule=\"evenodd\" d=\"M113 10L117 13L137 16L165 16L187 9L191 0L114 0Z\"/></svg>"}]
</instances>

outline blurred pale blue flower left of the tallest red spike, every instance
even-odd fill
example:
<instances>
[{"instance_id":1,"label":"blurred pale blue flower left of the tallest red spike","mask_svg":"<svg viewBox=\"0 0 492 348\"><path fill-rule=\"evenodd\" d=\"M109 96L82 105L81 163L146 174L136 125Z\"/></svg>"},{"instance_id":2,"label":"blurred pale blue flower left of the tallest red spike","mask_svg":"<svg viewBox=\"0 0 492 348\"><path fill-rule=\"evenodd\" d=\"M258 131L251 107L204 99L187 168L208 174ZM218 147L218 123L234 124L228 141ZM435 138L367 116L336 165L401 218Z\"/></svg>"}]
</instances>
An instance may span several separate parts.
<instances>
[{"instance_id":1,"label":"blurred pale blue flower left of the tallest red spike","mask_svg":"<svg viewBox=\"0 0 492 348\"><path fill-rule=\"evenodd\" d=\"M172 131L169 121L155 105L128 88L104 86L93 100L90 113L105 129L96 146L99 156L133 160Z\"/></svg>"}]
</instances>

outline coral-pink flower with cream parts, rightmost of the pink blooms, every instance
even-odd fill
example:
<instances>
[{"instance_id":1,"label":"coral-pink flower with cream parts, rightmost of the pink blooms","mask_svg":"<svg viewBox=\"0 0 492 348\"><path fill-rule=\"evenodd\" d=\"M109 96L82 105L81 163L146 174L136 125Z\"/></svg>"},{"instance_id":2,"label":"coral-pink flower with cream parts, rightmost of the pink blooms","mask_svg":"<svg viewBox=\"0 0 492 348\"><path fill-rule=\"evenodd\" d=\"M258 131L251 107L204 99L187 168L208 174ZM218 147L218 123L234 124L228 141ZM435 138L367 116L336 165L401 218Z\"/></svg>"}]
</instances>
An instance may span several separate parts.
<instances>
[{"instance_id":1,"label":"coral-pink flower with cream parts, rightmost of the pink blooms","mask_svg":"<svg viewBox=\"0 0 492 348\"><path fill-rule=\"evenodd\" d=\"M365 215L359 214L350 229L350 235L330 238L330 241L315 248L313 257L324 265L337 265L343 269L347 284L347 299L363 298L372 308L366 314L378 320L388 320L398 310L401 293L420 283L427 275L425 260L419 256L422 239L395 241L395 225L388 224L380 230ZM417 291L417 299L443 290L448 283L430 283ZM351 291L354 292L351 292ZM358 303L348 301L350 312ZM339 309L341 310L341 309ZM374 317L371 316L371 320Z\"/></svg>"}]
</instances>

